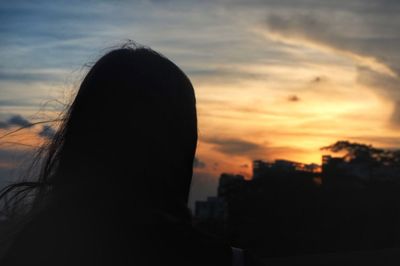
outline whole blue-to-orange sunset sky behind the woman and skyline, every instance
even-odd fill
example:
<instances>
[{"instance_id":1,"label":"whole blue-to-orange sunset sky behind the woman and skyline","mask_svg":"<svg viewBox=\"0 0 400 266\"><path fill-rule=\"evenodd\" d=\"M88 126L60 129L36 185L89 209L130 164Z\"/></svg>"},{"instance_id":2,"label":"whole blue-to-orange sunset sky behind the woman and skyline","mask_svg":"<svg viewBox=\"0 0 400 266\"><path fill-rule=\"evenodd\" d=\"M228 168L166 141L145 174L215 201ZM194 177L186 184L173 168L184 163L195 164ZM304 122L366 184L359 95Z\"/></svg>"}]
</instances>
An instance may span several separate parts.
<instances>
[{"instance_id":1,"label":"whole blue-to-orange sunset sky behind the woman and skyline","mask_svg":"<svg viewBox=\"0 0 400 266\"><path fill-rule=\"evenodd\" d=\"M337 140L399 148L399 12L397 0L2 1L0 134L55 117L87 65L134 40L195 87L192 200L221 172L250 177L253 159L320 163ZM0 140L1 182L49 126Z\"/></svg>"}]
</instances>

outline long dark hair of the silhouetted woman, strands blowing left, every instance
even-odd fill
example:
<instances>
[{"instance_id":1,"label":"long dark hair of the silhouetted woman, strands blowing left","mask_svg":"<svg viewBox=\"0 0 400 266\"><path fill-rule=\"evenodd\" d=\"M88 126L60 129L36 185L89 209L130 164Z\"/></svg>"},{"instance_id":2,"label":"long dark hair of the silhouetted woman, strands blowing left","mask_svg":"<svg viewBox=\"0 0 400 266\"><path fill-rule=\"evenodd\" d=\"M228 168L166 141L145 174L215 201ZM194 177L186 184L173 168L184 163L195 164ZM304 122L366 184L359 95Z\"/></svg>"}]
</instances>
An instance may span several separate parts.
<instances>
[{"instance_id":1,"label":"long dark hair of the silhouetted woman, strands blowing left","mask_svg":"<svg viewBox=\"0 0 400 266\"><path fill-rule=\"evenodd\" d=\"M87 73L39 154L37 179L12 184L0 197L18 204L33 196L30 213L52 205L118 206L186 219L196 144L195 94L187 76L149 48L124 46Z\"/></svg>"}]
</instances>

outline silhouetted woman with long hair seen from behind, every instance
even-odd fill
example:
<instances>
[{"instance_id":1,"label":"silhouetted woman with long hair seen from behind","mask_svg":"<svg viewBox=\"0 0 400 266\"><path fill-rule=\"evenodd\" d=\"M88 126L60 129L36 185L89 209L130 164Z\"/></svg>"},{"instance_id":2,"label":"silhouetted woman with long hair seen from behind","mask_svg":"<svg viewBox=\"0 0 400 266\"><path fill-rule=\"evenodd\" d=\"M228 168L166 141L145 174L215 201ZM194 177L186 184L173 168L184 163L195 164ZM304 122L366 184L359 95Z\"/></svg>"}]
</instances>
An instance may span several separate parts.
<instances>
[{"instance_id":1,"label":"silhouetted woman with long hair seen from behind","mask_svg":"<svg viewBox=\"0 0 400 266\"><path fill-rule=\"evenodd\" d=\"M39 179L5 190L32 207L0 264L232 265L227 244L191 226L196 144L186 75L147 48L109 52L83 80Z\"/></svg>"}]
</instances>

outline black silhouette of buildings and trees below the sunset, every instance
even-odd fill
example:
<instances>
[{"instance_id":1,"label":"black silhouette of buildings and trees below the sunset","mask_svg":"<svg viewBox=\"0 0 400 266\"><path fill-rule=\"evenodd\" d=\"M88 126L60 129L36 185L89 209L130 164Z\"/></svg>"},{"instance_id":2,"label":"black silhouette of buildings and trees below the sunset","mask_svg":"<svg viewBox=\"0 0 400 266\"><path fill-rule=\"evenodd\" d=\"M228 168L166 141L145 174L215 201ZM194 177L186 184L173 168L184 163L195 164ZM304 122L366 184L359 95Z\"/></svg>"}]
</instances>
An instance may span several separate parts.
<instances>
[{"instance_id":1,"label":"black silhouette of buildings and trees below the sunset","mask_svg":"<svg viewBox=\"0 0 400 266\"><path fill-rule=\"evenodd\" d=\"M219 200L196 205L198 225L260 257L400 247L398 151L344 141L329 149L347 153L324 155L321 166L255 160L251 180L221 174ZM211 214L216 203L222 219Z\"/></svg>"}]
</instances>

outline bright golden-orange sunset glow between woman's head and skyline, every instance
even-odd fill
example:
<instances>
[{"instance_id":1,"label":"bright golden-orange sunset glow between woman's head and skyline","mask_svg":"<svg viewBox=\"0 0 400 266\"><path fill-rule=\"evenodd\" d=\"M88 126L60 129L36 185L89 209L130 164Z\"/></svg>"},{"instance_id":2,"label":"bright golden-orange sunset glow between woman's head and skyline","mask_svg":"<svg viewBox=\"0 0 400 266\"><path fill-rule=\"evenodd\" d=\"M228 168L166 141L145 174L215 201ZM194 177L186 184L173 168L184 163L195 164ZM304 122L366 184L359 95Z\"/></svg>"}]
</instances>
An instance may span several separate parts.
<instances>
[{"instance_id":1,"label":"bright golden-orange sunset glow between woman's head and skyline","mask_svg":"<svg viewBox=\"0 0 400 266\"><path fill-rule=\"evenodd\" d=\"M298 49L303 49L303 44ZM310 53L313 47L305 49ZM195 80L200 140L203 142L204 137L207 142L199 145L200 157L207 161L211 153L219 153L213 156L211 165L216 163L212 161L229 161L228 170L248 177L250 167L241 166L249 165L253 159L320 164L320 148L341 139L390 146L374 137L399 136L387 122L391 103L359 83L359 61L341 53L327 55L319 48L313 53L309 63L299 66L242 66L259 77L241 79L236 84ZM333 63L313 62L315 58L319 60L317 54L330 57ZM211 141L210 136L214 138ZM252 152L243 154L235 149L224 150L219 147L221 138L228 140L225 145L236 140L249 142L241 143L244 150L246 144L254 147Z\"/></svg>"}]
</instances>

